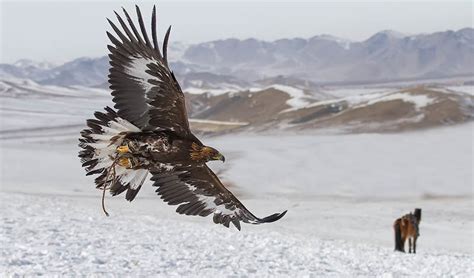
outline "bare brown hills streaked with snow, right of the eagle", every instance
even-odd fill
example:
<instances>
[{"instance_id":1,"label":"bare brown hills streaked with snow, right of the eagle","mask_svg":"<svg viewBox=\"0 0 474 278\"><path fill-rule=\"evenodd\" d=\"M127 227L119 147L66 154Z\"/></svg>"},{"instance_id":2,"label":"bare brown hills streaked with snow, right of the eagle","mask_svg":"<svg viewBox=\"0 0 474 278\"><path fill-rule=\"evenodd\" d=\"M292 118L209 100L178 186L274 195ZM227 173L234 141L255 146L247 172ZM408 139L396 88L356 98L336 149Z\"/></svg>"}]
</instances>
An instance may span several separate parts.
<instances>
[{"instance_id":1,"label":"bare brown hills streaked with snow, right of the eagle","mask_svg":"<svg viewBox=\"0 0 474 278\"><path fill-rule=\"evenodd\" d=\"M410 101L417 97L429 101L417 106ZM248 123L240 126L194 125L211 133L322 128L345 132L397 132L462 123L474 116L473 96L428 87L394 91L357 103L345 98L314 102L301 109L291 109L286 104L289 95L276 89L218 96L188 95L187 99L192 118Z\"/></svg>"}]
</instances>

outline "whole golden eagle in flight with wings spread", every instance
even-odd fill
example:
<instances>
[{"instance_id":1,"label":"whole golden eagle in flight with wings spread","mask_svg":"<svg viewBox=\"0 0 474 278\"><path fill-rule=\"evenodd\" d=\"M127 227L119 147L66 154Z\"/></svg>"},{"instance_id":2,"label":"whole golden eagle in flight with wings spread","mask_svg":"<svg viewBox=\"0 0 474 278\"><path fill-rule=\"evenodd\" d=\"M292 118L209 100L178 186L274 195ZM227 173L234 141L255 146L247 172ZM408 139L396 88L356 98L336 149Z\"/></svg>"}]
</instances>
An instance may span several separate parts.
<instances>
[{"instance_id":1,"label":"whole golden eagle in flight with wings spread","mask_svg":"<svg viewBox=\"0 0 474 278\"><path fill-rule=\"evenodd\" d=\"M260 224L277 221L286 213L265 218L253 215L207 167L224 156L205 146L189 129L184 94L168 65L168 28L160 52L153 7L151 40L138 6L139 30L125 9L127 23L115 13L121 31L108 20L116 36L107 32L110 51L109 83L114 107L96 112L82 130L79 152L87 175L98 175L97 188L115 196L126 191L132 201L151 174L156 192L180 214L208 216L216 224L240 230L240 221ZM104 195L102 196L102 206Z\"/></svg>"}]
</instances>

